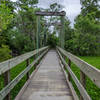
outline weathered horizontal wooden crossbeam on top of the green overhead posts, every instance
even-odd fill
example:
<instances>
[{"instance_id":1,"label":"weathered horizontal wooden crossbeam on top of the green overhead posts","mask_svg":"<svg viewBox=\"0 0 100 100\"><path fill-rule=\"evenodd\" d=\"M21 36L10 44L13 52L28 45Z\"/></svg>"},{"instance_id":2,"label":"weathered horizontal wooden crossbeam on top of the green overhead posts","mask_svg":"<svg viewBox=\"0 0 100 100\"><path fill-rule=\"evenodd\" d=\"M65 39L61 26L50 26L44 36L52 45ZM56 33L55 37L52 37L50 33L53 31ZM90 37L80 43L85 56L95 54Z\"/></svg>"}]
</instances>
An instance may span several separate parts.
<instances>
[{"instance_id":1,"label":"weathered horizontal wooden crossbeam on top of the green overhead posts","mask_svg":"<svg viewBox=\"0 0 100 100\"><path fill-rule=\"evenodd\" d=\"M37 11L35 12L36 15L38 16L65 16L66 13L65 11L62 12L42 12L42 11Z\"/></svg>"}]
</instances>

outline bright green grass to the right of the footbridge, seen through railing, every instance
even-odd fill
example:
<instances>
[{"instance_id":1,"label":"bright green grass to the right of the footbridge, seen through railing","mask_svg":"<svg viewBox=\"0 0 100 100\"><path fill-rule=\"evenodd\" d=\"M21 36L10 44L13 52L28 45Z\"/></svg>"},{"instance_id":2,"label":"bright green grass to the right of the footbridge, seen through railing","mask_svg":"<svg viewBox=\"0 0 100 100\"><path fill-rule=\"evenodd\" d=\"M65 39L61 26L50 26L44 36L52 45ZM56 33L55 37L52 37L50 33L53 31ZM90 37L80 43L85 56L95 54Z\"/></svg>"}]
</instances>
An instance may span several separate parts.
<instances>
[{"instance_id":1,"label":"bright green grass to the right of the footbridge, seen through railing","mask_svg":"<svg viewBox=\"0 0 100 100\"><path fill-rule=\"evenodd\" d=\"M94 56L84 56L80 57L84 61L88 62L89 64L93 65L94 67L100 69L100 57L94 57ZM72 63L71 66L72 71L75 73L78 79L80 79L80 69ZM74 81L71 79L72 84L78 94L80 95ZM86 91L92 98L92 100L100 100L100 88L98 88L96 85L93 84L93 82L87 77L86 78Z\"/></svg>"}]
</instances>

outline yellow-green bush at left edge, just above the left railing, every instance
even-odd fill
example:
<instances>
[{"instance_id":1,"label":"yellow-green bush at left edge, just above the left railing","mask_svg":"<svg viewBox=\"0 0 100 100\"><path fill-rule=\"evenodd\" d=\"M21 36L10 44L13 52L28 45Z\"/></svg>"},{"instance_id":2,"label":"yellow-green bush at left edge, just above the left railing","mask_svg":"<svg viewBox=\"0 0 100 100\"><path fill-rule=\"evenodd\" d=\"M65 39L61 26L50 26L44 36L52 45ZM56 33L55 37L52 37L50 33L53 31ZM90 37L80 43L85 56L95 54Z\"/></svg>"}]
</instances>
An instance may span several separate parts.
<instances>
[{"instance_id":1,"label":"yellow-green bush at left edge, just above the left railing","mask_svg":"<svg viewBox=\"0 0 100 100\"><path fill-rule=\"evenodd\" d=\"M11 50L7 45L2 45L0 48L0 62L11 58Z\"/></svg>"}]
</instances>

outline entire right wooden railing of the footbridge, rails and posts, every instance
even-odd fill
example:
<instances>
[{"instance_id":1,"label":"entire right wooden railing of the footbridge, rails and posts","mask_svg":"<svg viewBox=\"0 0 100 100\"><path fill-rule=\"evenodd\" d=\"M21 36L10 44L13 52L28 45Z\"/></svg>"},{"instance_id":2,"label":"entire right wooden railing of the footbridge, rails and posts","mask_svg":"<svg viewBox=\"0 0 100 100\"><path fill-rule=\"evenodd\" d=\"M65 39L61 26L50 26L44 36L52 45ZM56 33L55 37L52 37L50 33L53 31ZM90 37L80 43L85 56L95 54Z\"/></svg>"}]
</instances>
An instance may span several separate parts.
<instances>
[{"instance_id":1,"label":"entire right wooden railing of the footbridge, rails and posts","mask_svg":"<svg viewBox=\"0 0 100 100\"><path fill-rule=\"evenodd\" d=\"M88 64L87 62L81 60L75 55L65 51L64 49L57 47L59 57L62 64L68 70L68 81L70 82L70 77L72 77L75 82L79 92L80 100L91 100L90 96L86 91L86 76L89 77L92 82L100 88L100 70ZM68 64L65 58L68 58ZM73 62L80 69L80 81L77 79L73 71L71 70L71 62ZM70 82L71 83L71 82ZM77 99L76 99L77 100Z\"/></svg>"}]
</instances>

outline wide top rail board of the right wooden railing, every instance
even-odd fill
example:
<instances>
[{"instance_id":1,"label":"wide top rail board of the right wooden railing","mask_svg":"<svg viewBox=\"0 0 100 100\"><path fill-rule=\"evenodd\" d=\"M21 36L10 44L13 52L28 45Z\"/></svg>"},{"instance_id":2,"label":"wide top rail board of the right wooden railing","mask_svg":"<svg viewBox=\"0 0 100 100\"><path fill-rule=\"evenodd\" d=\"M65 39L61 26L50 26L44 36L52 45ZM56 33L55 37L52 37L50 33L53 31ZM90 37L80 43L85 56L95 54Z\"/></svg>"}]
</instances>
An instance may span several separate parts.
<instances>
[{"instance_id":1,"label":"wide top rail board of the right wooden railing","mask_svg":"<svg viewBox=\"0 0 100 100\"><path fill-rule=\"evenodd\" d=\"M68 57L74 64L77 65L77 67L85 74L87 75L94 84L96 84L100 88L100 70L95 68L94 66L88 64L87 62L81 60L80 58L76 57L75 55L59 48L59 51Z\"/></svg>"}]
</instances>

